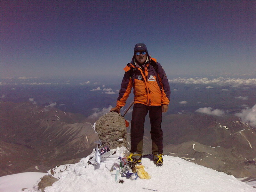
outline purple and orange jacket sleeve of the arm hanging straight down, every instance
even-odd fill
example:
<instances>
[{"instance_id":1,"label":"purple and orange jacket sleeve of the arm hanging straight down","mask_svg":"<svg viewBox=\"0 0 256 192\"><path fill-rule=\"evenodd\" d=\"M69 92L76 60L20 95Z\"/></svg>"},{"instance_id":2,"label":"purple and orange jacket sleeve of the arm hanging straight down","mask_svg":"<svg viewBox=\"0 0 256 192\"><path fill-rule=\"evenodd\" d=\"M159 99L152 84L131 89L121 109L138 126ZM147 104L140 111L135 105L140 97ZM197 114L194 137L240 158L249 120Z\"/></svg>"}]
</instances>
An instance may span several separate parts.
<instances>
[{"instance_id":1,"label":"purple and orange jacket sleeve of the arm hanging straight down","mask_svg":"<svg viewBox=\"0 0 256 192\"><path fill-rule=\"evenodd\" d=\"M158 73L158 79L162 88L162 104L164 105L169 105L170 103L170 95L171 95L171 90L170 90L170 85L168 82L168 78L164 72L164 69L160 65L160 63L156 63L157 66L157 73Z\"/></svg>"}]
</instances>

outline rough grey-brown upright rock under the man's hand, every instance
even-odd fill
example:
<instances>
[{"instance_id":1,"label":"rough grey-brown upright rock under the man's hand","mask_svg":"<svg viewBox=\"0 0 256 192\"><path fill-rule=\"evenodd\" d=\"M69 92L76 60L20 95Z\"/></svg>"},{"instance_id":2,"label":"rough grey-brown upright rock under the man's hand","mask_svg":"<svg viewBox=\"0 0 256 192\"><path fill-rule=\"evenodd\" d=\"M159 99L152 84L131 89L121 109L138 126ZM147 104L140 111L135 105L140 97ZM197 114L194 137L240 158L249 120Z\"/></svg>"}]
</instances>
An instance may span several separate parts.
<instances>
[{"instance_id":1,"label":"rough grey-brown upright rock under the man's hand","mask_svg":"<svg viewBox=\"0 0 256 192\"><path fill-rule=\"evenodd\" d=\"M125 119L116 112L107 113L96 121L95 131L103 146L110 149L127 147Z\"/></svg>"}]
</instances>

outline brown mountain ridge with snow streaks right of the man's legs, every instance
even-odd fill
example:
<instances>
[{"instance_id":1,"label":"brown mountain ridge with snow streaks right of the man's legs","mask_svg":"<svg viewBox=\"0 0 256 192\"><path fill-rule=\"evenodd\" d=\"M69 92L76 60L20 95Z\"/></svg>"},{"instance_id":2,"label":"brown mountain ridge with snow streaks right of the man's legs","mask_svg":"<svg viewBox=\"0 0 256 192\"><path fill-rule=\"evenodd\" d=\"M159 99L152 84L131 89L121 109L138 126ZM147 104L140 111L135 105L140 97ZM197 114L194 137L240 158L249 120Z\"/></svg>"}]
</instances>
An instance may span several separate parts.
<instances>
[{"instance_id":1,"label":"brown mountain ridge with snow streaks right of the man's legs","mask_svg":"<svg viewBox=\"0 0 256 192\"><path fill-rule=\"evenodd\" d=\"M166 124L163 129L173 144L164 147L166 155L178 156L236 177L256 177L254 128L237 119L224 123L235 120L233 117L187 114L169 118L169 130Z\"/></svg>"}]
</instances>

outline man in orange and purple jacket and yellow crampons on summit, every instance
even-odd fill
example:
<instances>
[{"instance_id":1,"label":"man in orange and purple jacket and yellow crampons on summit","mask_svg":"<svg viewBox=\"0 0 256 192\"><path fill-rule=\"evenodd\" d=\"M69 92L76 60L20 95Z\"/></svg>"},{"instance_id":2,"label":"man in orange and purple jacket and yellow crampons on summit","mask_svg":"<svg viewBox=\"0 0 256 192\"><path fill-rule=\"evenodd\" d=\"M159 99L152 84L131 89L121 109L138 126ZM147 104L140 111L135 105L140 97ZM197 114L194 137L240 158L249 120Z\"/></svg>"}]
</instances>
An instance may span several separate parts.
<instances>
[{"instance_id":1,"label":"man in orange and purple jacket and yellow crampons on summit","mask_svg":"<svg viewBox=\"0 0 256 192\"><path fill-rule=\"evenodd\" d=\"M125 74L117 98L116 107L111 111L120 113L133 87L134 106L131 121L131 154L127 161L140 163L144 136L145 117L149 111L151 124L152 154L156 165L163 164L162 112L167 112L170 102L170 86L162 66L148 55L145 44L134 47L132 62L124 68Z\"/></svg>"}]
</instances>

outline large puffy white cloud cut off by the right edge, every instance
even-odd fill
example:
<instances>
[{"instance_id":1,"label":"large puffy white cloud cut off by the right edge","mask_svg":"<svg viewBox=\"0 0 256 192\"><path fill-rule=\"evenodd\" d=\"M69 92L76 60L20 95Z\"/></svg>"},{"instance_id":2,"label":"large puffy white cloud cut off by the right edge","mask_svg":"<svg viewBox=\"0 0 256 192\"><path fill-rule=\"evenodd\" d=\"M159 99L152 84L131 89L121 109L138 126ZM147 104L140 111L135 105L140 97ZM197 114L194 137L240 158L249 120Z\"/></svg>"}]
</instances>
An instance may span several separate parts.
<instances>
[{"instance_id":1,"label":"large puffy white cloud cut off by the right edge","mask_svg":"<svg viewBox=\"0 0 256 192\"><path fill-rule=\"evenodd\" d=\"M256 105L252 108L246 108L241 113L236 113L236 116L240 117L242 122L248 123L252 127L256 127Z\"/></svg>"}]
</instances>

